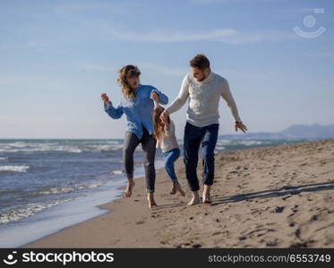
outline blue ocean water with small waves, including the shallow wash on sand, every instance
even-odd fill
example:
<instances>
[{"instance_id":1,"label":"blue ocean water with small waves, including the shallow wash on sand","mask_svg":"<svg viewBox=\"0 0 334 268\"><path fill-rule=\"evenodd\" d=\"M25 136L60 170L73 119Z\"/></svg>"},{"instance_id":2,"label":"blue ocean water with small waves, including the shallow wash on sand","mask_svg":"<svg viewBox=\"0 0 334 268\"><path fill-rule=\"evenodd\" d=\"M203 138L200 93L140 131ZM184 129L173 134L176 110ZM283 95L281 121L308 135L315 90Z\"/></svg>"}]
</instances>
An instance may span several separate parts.
<instances>
[{"instance_id":1,"label":"blue ocean water with small waves, including the shallow wash on sand","mask_svg":"<svg viewBox=\"0 0 334 268\"><path fill-rule=\"evenodd\" d=\"M298 141L220 139L216 153L291 142ZM122 139L0 139L0 247L20 247L105 213L97 205L120 197L126 182L122 147ZM141 147L134 168L143 175Z\"/></svg>"}]
</instances>

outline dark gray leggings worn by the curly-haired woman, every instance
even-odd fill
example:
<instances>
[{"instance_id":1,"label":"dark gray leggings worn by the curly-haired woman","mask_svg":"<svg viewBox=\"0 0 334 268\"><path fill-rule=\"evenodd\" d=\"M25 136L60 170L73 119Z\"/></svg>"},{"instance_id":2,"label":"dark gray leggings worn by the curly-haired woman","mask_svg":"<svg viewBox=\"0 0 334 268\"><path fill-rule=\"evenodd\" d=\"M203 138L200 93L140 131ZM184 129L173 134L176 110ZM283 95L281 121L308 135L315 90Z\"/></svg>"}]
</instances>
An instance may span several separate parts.
<instances>
[{"instance_id":1,"label":"dark gray leggings worn by the curly-haired woman","mask_svg":"<svg viewBox=\"0 0 334 268\"><path fill-rule=\"evenodd\" d=\"M139 139L132 132L126 131L123 146L124 172L127 179L133 179L133 153L135 148L141 143L144 151L143 163L146 179L146 190L148 193L154 193L156 181L156 169L154 167L154 158L156 156L157 140L150 135L148 130L143 128L143 134Z\"/></svg>"}]
</instances>

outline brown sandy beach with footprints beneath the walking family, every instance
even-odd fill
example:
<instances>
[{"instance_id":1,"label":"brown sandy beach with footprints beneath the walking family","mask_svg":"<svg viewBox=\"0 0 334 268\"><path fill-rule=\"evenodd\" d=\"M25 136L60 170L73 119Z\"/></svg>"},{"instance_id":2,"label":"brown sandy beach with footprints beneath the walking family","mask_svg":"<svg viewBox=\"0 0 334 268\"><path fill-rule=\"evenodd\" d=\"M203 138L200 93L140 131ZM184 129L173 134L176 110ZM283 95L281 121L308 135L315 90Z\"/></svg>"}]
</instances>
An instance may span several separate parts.
<instances>
[{"instance_id":1,"label":"brown sandy beach with footprints beneath the walking family","mask_svg":"<svg viewBox=\"0 0 334 268\"><path fill-rule=\"evenodd\" d=\"M201 178L201 163L198 174ZM24 247L334 247L334 140L216 155L211 205L169 195L157 172L150 210L144 180L133 196L102 205L103 214Z\"/></svg>"}]
</instances>

